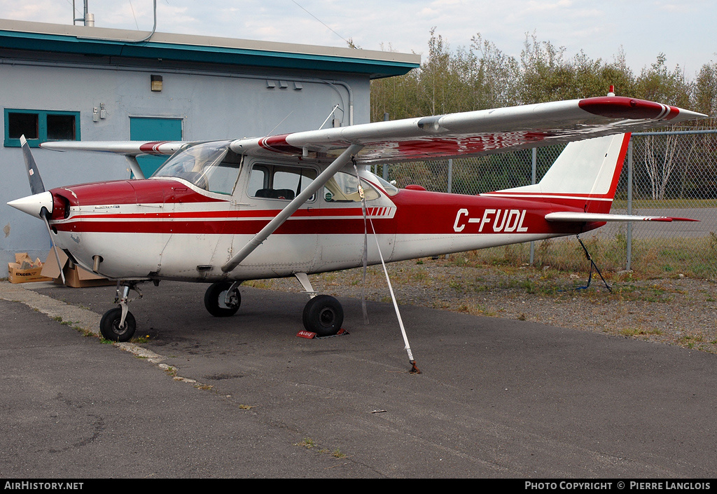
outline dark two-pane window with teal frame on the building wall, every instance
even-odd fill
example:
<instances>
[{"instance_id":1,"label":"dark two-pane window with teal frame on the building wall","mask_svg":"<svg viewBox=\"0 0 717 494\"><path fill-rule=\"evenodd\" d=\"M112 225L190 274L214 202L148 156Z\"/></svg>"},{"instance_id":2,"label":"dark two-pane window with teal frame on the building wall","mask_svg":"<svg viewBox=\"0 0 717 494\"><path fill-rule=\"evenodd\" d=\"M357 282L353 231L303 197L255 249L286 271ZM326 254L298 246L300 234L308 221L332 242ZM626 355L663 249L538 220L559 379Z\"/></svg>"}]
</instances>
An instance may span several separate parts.
<instances>
[{"instance_id":1,"label":"dark two-pane window with teal frame on the building wall","mask_svg":"<svg viewBox=\"0 0 717 494\"><path fill-rule=\"evenodd\" d=\"M20 136L31 147L47 141L79 141L79 111L5 108L5 147L19 147Z\"/></svg>"}]
</instances>

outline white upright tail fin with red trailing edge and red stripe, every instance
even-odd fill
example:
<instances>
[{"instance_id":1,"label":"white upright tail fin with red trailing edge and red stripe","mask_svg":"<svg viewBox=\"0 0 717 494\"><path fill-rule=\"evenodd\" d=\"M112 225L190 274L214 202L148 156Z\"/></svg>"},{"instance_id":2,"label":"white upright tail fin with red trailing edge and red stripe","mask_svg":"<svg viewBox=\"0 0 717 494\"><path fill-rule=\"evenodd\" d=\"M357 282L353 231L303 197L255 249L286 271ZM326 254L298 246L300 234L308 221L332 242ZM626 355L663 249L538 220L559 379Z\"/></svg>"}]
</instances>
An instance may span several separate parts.
<instances>
[{"instance_id":1,"label":"white upright tail fin with red trailing edge and red stripe","mask_svg":"<svg viewBox=\"0 0 717 494\"><path fill-rule=\"evenodd\" d=\"M537 184L491 194L542 197L585 213L609 213L629 141L630 134L617 134L571 142Z\"/></svg>"}]
</instances>

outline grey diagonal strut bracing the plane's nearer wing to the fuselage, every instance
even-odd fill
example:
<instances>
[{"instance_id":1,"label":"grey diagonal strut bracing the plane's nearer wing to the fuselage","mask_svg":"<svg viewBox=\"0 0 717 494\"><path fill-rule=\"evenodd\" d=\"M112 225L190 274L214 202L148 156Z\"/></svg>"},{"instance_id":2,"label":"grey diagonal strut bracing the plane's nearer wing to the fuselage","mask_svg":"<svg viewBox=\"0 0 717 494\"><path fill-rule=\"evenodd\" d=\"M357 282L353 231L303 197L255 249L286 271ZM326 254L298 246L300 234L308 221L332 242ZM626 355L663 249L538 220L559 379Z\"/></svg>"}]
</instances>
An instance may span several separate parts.
<instances>
[{"instance_id":1,"label":"grey diagonal strut bracing the plane's nearer wing to the fuselage","mask_svg":"<svg viewBox=\"0 0 717 494\"><path fill-rule=\"evenodd\" d=\"M259 233L247 242L247 245L242 247L242 249L237 252L234 257L229 259L227 264L222 266L222 271L224 271L224 273L229 273L229 271L232 271L232 269L239 266L239 264L241 264L241 262L244 261L244 259L247 258L247 256L249 256L255 248L260 246L262 242L274 233L276 229L279 228L286 220L288 220L291 215L296 213L296 210L298 210L298 208L300 208L301 205L309 199L309 197L314 195L321 187L326 185L326 182L328 182L328 180L331 179L331 177L333 177L338 170L346 166L346 164L351 161L351 156L358 153L362 147L363 146L360 144L351 144L351 146L348 146L348 148L341 153L341 156L333 160L333 163L328 165L328 167L321 172L318 177L316 177L316 180L311 182L310 185L300 192L299 195L294 197L286 208L282 209L279 214L277 214L264 228L259 231Z\"/></svg>"}]
</instances>

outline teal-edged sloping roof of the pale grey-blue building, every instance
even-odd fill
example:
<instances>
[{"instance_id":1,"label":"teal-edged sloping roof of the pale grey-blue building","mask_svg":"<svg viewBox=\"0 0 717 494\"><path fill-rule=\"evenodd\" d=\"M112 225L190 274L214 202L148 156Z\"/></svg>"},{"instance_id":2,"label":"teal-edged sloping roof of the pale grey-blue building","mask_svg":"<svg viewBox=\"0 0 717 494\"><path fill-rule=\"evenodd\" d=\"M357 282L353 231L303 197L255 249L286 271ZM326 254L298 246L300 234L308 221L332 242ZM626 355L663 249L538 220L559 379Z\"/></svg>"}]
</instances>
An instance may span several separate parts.
<instances>
[{"instance_id":1,"label":"teal-edged sloping roof of the pale grey-blue building","mask_svg":"<svg viewBox=\"0 0 717 494\"><path fill-rule=\"evenodd\" d=\"M0 19L0 48L292 70L403 75L420 55Z\"/></svg>"}]
</instances>

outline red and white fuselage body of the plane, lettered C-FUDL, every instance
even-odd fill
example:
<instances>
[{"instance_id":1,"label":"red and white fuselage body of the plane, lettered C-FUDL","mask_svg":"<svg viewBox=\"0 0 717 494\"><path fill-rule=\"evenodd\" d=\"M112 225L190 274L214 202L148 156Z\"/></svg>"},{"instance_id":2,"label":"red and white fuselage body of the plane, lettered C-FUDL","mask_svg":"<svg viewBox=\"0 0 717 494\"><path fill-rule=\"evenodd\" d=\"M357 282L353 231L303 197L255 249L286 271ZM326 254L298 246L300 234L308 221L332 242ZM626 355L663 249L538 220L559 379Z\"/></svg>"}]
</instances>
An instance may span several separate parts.
<instances>
[{"instance_id":1,"label":"red and white fuselage body of the plane, lettered C-FUDL","mask_svg":"<svg viewBox=\"0 0 717 494\"><path fill-rule=\"evenodd\" d=\"M572 235L600 225L545 220L554 210L582 210L579 201L566 207L544 198L454 195L417 190L420 187L397 190L364 169L351 168L342 172L343 182L360 174L365 216L355 189L344 185L341 192L327 185L239 266L224 273L222 265L291 198L280 195L291 190L274 183L257 185L250 169L262 169L266 175L264 169L273 167L279 182L280 172L293 172L291 166L244 160L233 187L222 192L179 177L60 187L50 191L55 206L49 223L60 248L108 278L206 282L353 268L363 264L364 245L368 264L377 264L381 258L391 262L470 251ZM303 180L320 172L319 167L312 171L310 164L297 167L303 171L296 176ZM270 194L257 188L264 185L274 187Z\"/></svg>"}]
</instances>

